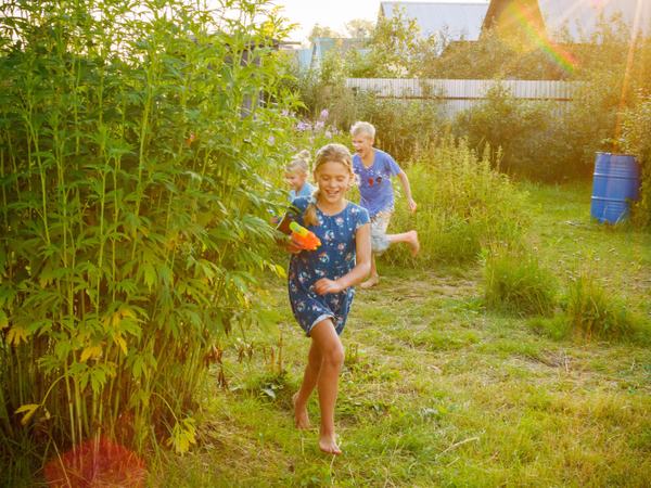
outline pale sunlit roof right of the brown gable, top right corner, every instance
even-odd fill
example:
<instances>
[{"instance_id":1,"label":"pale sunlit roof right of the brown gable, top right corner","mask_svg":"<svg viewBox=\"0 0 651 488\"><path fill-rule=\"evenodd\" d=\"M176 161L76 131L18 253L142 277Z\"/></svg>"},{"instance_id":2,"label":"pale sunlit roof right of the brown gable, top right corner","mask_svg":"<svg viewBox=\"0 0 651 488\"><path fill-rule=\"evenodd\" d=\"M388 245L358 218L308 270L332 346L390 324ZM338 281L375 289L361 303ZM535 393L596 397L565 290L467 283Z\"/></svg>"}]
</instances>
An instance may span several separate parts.
<instances>
[{"instance_id":1,"label":"pale sunlit roof right of the brown gable, top right corner","mask_svg":"<svg viewBox=\"0 0 651 488\"><path fill-rule=\"evenodd\" d=\"M608 21L617 12L631 36L651 36L651 0L538 0L538 7L553 40L566 28L572 40L582 41L595 33L600 15Z\"/></svg>"}]
</instances>

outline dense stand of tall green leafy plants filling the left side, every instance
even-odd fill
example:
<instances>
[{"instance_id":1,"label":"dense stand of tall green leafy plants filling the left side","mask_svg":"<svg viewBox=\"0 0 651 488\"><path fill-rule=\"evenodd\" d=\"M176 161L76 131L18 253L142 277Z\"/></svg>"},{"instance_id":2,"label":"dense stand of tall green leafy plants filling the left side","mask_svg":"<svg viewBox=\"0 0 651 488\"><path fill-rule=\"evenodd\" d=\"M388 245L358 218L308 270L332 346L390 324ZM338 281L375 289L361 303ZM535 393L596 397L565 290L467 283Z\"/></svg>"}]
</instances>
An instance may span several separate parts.
<instances>
[{"instance_id":1,"label":"dense stand of tall green leafy plants filling the left side","mask_svg":"<svg viewBox=\"0 0 651 488\"><path fill-rule=\"evenodd\" d=\"M187 449L208 352L275 269L283 24L263 0L50 0L0 30L0 433Z\"/></svg>"}]
</instances>

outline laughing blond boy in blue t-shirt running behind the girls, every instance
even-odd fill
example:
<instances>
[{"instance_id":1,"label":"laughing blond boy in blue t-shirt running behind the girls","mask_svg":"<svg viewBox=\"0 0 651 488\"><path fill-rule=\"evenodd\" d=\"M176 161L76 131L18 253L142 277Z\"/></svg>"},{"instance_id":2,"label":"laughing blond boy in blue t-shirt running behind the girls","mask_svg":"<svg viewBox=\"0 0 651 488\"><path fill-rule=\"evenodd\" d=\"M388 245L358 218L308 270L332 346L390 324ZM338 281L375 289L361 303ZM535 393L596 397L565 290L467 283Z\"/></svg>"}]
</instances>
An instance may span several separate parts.
<instances>
[{"instance_id":1,"label":"laughing blond boy in blue t-shirt running behind the girls","mask_svg":"<svg viewBox=\"0 0 651 488\"><path fill-rule=\"evenodd\" d=\"M370 288L380 282L375 267L375 254L382 254L397 242L405 242L411 247L412 256L420 249L418 233L414 230L400 234L386 234L391 216L394 211L394 192L391 178L397 176L403 184L409 209L416 211L416 202L411 197L409 179L391 155L373 147L375 128L366 121L358 121L350 128L353 146L353 169L359 178L359 205L369 211L371 218L371 275L361 283L362 288Z\"/></svg>"}]
</instances>

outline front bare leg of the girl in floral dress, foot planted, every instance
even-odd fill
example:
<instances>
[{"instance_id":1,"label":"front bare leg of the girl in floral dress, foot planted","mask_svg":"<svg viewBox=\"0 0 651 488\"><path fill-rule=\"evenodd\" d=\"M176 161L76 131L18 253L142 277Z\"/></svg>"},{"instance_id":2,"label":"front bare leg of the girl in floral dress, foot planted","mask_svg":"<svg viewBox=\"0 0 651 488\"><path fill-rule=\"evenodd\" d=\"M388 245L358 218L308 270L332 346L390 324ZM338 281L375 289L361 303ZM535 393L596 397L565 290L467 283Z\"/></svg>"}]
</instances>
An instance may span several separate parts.
<instances>
[{"instance_id":1,"label":"front bare leg of the girl in floral dress, foot planted","mask_svg":"<svg viewBox=\"0 0 651 488\"><path fill-rule=\"evenodd\" d=\"M339 391L339 375L344 363L344 347L330 319L316 324L310 335L321 355L321 369L317 380L321 408L319 449L330 454L341 454L334 432L334 404Z\"/></svg>"}]
</instances>

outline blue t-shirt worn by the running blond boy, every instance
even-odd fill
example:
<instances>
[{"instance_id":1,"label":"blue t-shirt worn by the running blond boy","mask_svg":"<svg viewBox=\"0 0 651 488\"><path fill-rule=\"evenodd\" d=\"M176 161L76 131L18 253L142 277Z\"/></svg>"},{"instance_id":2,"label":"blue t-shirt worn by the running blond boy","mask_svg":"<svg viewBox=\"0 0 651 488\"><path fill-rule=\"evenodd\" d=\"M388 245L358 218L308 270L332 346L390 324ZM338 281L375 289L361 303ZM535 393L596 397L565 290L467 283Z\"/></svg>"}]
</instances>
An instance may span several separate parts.
<instances>
[{"instance_id":1,"label":"blue t-shirt worn by the running blond boy","mask_svg":"<svg viewBox=\"0 0 651 488\"><path fill-rule=\"evenodd\" d=\"M359 205L369 210L371 217L380 211L393 210L394 193L391 178L401 171L394 158L384 151L373 149L373 164L368 168L359 154L353 156L353 170L359 177Z\"/></svg>"}]
</instances>

